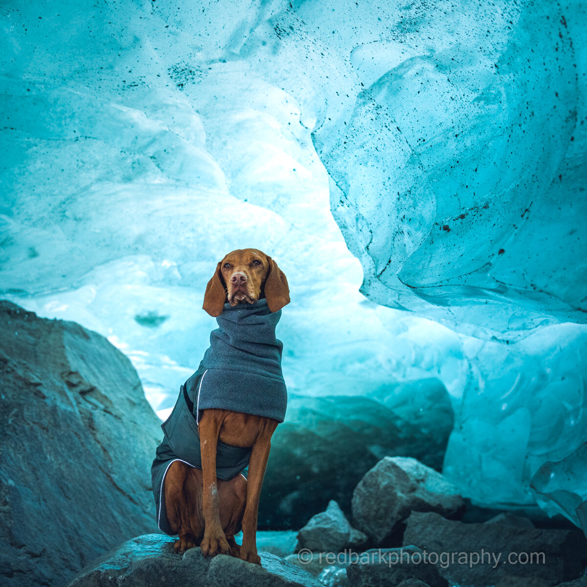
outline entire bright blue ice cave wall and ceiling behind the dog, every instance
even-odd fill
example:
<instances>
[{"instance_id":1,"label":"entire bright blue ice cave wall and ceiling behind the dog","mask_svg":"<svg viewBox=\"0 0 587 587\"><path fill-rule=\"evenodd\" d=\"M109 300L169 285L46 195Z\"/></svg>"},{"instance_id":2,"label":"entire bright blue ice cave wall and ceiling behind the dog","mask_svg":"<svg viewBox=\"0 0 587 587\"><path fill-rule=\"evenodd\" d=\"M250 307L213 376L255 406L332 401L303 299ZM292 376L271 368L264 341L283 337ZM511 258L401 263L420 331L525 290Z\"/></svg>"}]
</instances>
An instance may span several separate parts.
<instances>
[{"instance_id":1,"label":"entire bright blue ice cave wall and ceiling behind the dog","mask_svg":"<svg viewBox=\"0 0 587 587\"><path fill-rule=\"evenodd\" d=\"M4 296L109 336L164 416L215 263L265 249L294 396L435 377L467 497L580 521L587 496L540 472L585 474L583 4L9 0L0 21Z\"/></svg>"}]
</instances>

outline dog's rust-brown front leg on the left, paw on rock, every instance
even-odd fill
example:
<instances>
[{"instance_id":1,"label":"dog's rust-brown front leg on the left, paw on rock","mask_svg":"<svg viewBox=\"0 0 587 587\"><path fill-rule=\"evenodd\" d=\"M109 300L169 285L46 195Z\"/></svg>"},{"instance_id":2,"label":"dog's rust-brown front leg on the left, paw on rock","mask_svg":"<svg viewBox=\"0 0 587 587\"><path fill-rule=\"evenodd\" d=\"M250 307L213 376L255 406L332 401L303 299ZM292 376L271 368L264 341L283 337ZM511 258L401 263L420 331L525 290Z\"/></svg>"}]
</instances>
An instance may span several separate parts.
<instances>
[{"instance_id":1,"label":"dog's rust-brown front leg on the left, paw on rock","mask_svg":"<svg viewBox=\"0 0 587 587\"><path fill-rule=\"evenodd\" d=\"M204 510L204 538L200 548L204 556L228 554L230 546L220 524L218 512L218 487L216 483L216 446L218 434L222 425L220 410L204 410L204 415L198 426L200 433L200 451L202 454L203 495L202 508Z\"/></svg>"}]
</instances>

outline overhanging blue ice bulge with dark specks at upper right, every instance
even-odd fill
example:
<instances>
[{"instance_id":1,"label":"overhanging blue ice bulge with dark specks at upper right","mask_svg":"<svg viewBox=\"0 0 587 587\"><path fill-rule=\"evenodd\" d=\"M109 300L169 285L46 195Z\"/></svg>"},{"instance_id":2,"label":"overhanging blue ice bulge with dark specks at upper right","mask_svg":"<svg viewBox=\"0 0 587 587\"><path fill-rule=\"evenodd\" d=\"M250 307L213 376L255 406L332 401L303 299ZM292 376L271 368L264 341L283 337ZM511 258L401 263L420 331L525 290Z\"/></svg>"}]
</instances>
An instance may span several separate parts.
<instances>
[{"instance_id":1,"label":"overhanging blue ice bulge with dark specks at upper right","mask_svg":"<svg viewBox=\"0 0 587 587\"><path fill-rule=\"evenodd\" d=\"M585 7L414 4L395 25L352 49L365 87L314 132L362 291L510 340L585 323Z\"/></svg>"}]
</instances>

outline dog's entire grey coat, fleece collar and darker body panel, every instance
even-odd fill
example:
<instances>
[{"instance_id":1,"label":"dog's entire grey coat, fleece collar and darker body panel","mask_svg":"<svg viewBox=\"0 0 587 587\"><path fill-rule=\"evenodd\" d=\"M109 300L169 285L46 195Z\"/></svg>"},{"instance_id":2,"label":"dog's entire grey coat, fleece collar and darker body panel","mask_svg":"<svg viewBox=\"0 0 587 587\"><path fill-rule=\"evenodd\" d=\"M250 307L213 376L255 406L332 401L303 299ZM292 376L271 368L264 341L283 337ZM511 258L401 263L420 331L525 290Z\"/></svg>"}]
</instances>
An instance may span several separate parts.
<instances>
[{"instance_id":1,"label":"dog's entire grey coat, fleece collar and darker body panel","mask_svg":"<svg viewBox=\"0 0 587 587\"><path fill-rule=\"evenodd\" d=\"M151 466L157 525L174 535L167 521L163 483L169 465L183 461L201 469L198 422L205 409L220 408L284 421L287 390L281 370L283 345L275 338L281 310L271 312L265 299L225 304L210 334L210 348L198 370L180 388L176 405L161 425L163 441ZM251 448L218 440L216 474L232 479L247 467Z\"/></svg>"}]
</instances>

